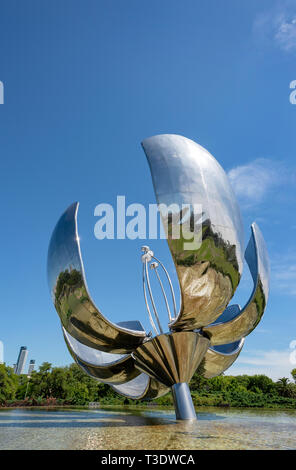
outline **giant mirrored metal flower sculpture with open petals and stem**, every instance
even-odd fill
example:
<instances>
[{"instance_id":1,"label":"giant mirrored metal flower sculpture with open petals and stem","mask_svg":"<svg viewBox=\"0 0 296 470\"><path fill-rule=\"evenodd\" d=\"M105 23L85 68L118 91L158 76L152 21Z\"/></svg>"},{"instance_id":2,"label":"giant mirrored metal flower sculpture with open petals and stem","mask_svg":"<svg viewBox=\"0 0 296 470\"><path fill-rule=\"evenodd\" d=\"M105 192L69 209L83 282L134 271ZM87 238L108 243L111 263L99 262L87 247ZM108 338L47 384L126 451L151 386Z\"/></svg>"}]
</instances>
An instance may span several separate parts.
<instances>
[{"instance_id":1,"label":"giant mirrored metal flower sculpture with open petals and stem","mask_svg":"<svg viewBox=\"0 0 296 470\"><path fill-rule=\"evenodd\" d=\"M224 170L209 152L185 137L159 135L142 145L163 220L168 218L163 207L185 204L190 207L187 219L191 229L200 237L196 247L185 250L184 240L171 236L174 225L182 225L183 215L169 214L167 242L180 285L179 311L166 268L145 246L144 297L155 336L147 334L138 321L115 324L100 312L85 280L77 232L78 203L66 210L52 234L49 287L70 354L87 374L137 400L154 399L171 389L177 419L195 419L188 383L201 361L204 376L211 378L222 374L238 357L245 337L258 325L266 307L268 257L254 223L245 251L253 291L243 308L228 306L241 278L244 242L239 208ZM202 207L198 223L196 205ZM156 273L168 310L165 333L150 285L149 266ZM159 269L170 286L173 312Z\"/></svg>"}]
</instances>

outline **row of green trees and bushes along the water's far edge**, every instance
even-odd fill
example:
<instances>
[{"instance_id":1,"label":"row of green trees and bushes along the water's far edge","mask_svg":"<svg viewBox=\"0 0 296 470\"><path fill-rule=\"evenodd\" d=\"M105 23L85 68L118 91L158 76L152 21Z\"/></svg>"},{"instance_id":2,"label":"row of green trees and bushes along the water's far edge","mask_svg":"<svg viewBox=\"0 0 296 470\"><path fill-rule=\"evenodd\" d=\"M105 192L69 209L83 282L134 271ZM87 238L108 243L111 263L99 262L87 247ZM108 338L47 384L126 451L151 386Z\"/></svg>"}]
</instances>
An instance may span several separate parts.
<instances>
[{"instance_id":1,"label":"row of green trees and bushes along the water's far edge","mask_svg":"<svg viewBox=\"0 0 296 470\"><path fill-rule=\"evenodd\" d=\"M233 406L296 408L296 369L292 380L273 381L266 375L220 375L203 377L203 367L194 374L190 389L196 406ZM11 367L0 364L0 406L84 406L89 402L102 405L145 405L147 402L121 397L113 389L85 374L77 364L52 367L44 362L31 376L16 375ZM151 402L150 402L151 403ZM152 402L172 406L171 393Z\"/></svg>"}]
</instances>

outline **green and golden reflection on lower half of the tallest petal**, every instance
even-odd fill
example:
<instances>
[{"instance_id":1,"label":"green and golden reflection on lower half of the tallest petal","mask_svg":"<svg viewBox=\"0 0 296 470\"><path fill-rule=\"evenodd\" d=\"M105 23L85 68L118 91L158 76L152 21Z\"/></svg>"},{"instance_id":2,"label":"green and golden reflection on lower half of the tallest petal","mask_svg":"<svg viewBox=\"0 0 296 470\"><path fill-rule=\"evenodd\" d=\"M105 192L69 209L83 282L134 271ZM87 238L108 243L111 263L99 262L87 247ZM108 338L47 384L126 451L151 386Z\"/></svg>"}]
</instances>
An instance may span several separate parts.
<instances>
[{"instance_id":1,"label":"green and golden reflection on lower half of the tallest petal","mask_svg":"<svg viewBox=\"0 0 296 470\"><path fill-rule=\"evenodd\" d=\"M192 229L193 227L191 227ZM218 318L227 307L240 281L236 246L213 230L210 220L202 223L201 246L184 250L188 242L180 231L168 244L175 262L182 296L182 314L174 327L200 328Z\"/></svg>"}]
</instances>

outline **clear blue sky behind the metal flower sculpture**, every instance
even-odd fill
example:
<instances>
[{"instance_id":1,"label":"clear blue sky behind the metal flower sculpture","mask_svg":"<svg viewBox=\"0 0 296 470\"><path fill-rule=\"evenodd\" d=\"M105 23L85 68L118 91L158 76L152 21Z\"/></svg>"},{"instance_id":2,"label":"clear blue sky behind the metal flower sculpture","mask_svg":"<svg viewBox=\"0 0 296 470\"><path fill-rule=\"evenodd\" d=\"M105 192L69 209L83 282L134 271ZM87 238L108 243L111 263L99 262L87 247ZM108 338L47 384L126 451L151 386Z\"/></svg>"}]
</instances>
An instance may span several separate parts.
<instances>
[{"instance_id":1,"label":"clear blue sky behind the metal flower sculpture","mask_svg":"<svg viewBox=\"0 0 296 470\"><path fill-rule=\"evenodd\" d=\"M46 256L80 201L90 291L113 321L139 318L143 240L94 237L94 208L154 202L140 142L189 137L229 173L246 242L256 220L271 260L265 316L229 373L288 376L296 339L296 5L273 0L1 2L1 322L5 361L71 362ZM150 243L173 271L164 240ZM247 272L236 298L251 290Z\"/></svg>"}]
</instances>

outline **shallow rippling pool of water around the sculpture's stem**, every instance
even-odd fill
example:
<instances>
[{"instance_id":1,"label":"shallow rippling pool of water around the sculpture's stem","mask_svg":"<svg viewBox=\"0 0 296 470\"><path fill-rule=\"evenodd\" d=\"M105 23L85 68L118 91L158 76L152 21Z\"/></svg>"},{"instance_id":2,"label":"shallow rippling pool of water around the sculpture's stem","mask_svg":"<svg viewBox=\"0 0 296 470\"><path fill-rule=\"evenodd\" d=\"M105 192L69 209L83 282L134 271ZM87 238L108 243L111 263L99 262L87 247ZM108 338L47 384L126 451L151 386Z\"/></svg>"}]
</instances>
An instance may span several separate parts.
<instances>
[{"instance_id":1,"label":"shallow rippling pool of water around the sculpture's stem","mask_svg":"<svg viewBox=\"0 0 296 470\"><path fill-rule=\"evenodd\" d=\"M0 410L0 449L296 449L296 410Z\"/></svg>"}]
</instances>

